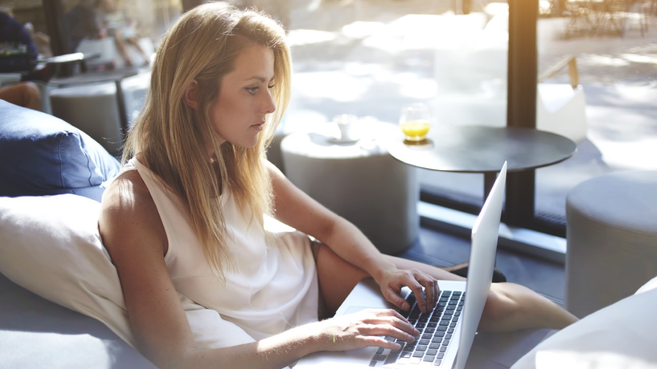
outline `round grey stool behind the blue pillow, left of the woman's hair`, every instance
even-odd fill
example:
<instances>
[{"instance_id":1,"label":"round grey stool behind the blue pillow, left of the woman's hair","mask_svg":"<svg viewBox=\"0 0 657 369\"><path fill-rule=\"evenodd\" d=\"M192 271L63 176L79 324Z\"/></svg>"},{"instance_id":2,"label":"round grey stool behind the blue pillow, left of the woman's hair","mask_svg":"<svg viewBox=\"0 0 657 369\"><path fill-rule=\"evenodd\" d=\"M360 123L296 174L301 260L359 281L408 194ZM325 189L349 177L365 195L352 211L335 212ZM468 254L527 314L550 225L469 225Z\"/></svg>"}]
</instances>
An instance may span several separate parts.
<instances>
[{"instance_id":1,"label":"round grey stool behind the blue pillow, left of the woman's hair","mask_svg":"<svg viewBox=\"0 0 657 369\"><path fill-rule=\"evenodd\" d=\"M123 139L116 83L89 83L54 89L50 93L53 116L78 127L112 155L119 155Z\"/></svg>"}]
</instances>

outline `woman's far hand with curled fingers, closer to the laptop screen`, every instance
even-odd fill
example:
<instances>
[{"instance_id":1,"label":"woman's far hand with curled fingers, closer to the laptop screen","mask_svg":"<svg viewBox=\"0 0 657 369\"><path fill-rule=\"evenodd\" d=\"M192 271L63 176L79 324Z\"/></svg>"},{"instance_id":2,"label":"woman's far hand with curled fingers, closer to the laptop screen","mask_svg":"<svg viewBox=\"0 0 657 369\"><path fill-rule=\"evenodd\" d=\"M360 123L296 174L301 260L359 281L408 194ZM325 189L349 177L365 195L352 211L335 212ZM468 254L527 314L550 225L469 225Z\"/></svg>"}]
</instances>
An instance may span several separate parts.
<instances>
[{"instance_id":1,"label":"woman's far hand with curled fingers, closer to the laptop screen","mask_svg":"<svg viewBox=\"0 0 657 369\"><path fill-rule=\"evenodd\" d=\"M407 286L415 293L417 305L422 313L431 311L438 303L438 281L425 272L417 269L391 267L382 271L375 279L386 300L403 311L411 309L409 303L401 297L401 288L403 286ZM424 293L422 287L424 287Z\"/></svg>"}]
</instances>

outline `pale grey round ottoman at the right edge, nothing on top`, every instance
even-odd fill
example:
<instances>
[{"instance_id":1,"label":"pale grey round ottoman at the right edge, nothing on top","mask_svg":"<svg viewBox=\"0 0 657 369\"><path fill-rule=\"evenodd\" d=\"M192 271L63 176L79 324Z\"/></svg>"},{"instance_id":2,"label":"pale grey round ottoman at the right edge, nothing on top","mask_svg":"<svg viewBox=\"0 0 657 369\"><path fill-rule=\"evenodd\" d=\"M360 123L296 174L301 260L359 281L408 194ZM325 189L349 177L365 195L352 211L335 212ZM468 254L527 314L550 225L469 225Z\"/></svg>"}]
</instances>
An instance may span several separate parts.
<instances>
[{"instance_id":1,"label":"pale grey round ottoman at the right edge, nothing on top","mask_svg":"<svg viewBox=\"0 0 657 369\"><path fill-rule=\"evenodd\" d=\"M657 171L602 175L566 198L566 308L583 317L657 275Z\"/></svg>"}]
</instances>

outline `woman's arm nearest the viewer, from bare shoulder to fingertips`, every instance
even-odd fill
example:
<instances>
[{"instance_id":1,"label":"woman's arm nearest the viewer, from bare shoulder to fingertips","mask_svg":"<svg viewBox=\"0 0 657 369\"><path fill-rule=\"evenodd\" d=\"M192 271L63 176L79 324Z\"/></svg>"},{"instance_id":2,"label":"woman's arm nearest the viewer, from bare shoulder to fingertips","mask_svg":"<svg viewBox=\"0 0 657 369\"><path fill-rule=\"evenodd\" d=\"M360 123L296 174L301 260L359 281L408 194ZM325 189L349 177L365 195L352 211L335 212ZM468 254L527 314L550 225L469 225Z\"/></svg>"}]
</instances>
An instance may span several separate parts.
<instances>
[{"instance_id":1,"label":"woman's arm nearest the viewer, from bare shoulder to fingertips","mask_svg":"<svg viewBox=\"0 0 657 369\"><path fill-rule=\"evenodd\" d=\"M116 266L136 346L160 368L283 368L308 353L412 341L418 332L394 311L364 311L235 347L198 350L166 269L166 232L136 171L106 190L99 228ZM335 337L335 339L334 339Z\"/></svg>"}]
</instances>

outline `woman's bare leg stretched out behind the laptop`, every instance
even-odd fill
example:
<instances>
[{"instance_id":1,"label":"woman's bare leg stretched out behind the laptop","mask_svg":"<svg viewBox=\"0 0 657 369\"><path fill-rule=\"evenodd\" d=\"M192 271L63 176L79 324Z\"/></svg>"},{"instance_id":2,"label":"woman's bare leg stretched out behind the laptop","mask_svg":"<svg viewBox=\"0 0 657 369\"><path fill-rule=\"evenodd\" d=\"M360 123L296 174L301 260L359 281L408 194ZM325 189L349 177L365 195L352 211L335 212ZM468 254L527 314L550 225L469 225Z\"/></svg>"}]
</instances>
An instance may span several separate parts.
<instances>
[{"instance_id":1,"label":"woman's bare leg stretched out behind the laptop","mask_svg":"<svg viewBox=\"0 0 657 369\"><path fill-rule=\"evenodd\" d=\"M390 255L384 255L402 269L419 269L438 280L465 280L461 276ZM325 245L315 246L315 261L320 293L329 311L334 313L353 286L368 274L347 263ZM489 332L508 332L523 328L561 329L578 319L549 299L529 288L513 283L495 283L484 307L480 329Z\"/></svg>"}]
</instances>

